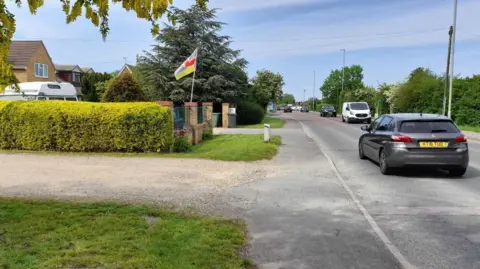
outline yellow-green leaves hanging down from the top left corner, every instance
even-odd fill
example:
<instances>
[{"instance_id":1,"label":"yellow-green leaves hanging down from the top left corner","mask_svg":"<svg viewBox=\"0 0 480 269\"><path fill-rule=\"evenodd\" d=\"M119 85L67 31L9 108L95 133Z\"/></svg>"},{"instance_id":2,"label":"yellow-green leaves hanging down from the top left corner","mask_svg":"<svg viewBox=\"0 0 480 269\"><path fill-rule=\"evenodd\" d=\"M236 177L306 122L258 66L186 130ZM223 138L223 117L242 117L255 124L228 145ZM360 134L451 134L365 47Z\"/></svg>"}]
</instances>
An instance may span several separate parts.
<instances>
[{"instance_id":1,"label":"yellow-green leaves hanging down from the top left corner","mask_svg":"<svg viewBox=\"0 0 480 269\"><path fill-rule=\"evenodd\" d=\"M53 0L49 0L53 1ZM199 7L204 8L208 0L196 0ZM32 14L43 6L45 0L11 0L18 7L27 3ZM175 14L168 11L172 0L59 0L62 4L62 11L66 15L67 23L75 21L78 17L84 16L96 27L100 28L100 33L105 39L110 27L108 24L109 10L111 4L121 3L127 11L133 11L140 19L152 23L152 34L159 31L158 19L167 13L167 18L175 22ZM0 87L10 85L16 82L12 72L12 66L8 64L8 54L10 51L10 42L15 33L15 17L8 10L6 0L0 0Z\"/></svg>"}]
</instances>

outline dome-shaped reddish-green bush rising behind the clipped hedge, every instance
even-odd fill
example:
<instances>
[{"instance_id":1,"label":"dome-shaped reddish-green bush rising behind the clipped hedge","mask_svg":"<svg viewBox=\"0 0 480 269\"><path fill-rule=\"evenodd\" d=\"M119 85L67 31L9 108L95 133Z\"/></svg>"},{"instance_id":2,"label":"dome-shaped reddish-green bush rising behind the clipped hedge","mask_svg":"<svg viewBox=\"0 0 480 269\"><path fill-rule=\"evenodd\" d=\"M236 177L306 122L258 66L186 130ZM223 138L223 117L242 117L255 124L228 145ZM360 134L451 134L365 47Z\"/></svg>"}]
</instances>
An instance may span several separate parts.
<instances>
[{"instance_id":1,"label":"dome-shaped reddish-green bush rising behind the clipped hedge","mask_svg":"<svg viewBox=\"0 0 480 269\"><path fill-rule=\"evenodd\" d=\"M104 102L144 101L145 94L130 74L123 74L110 84L103 95Z\"/></svg>"}]
</instances>

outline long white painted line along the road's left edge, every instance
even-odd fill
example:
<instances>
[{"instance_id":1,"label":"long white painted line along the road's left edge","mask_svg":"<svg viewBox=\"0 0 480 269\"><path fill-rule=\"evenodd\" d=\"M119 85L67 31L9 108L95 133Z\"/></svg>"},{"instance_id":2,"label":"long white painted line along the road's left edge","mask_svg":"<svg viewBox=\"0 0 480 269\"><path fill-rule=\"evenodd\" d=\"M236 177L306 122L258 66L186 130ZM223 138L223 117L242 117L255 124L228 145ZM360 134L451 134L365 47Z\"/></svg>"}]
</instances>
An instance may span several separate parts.
<instances>
[{"instance_id":1,"label":"long white painted line along the road's left edge","mask_svg":"<svg viewBox=\"0 0 480 269\"><path fill-rule=\"evenodd\" d=\"M317 144L317 147L320 149L322 154L327 158L328 162L330 165L333 167L333 171L335 172L335 175L337 177L337 180L340 181L342 184L342 187L345 189L345 191L348 193L350 198L353 200L357 208L360 210L362 213L363 217L367 220L368 224L370 224L370 227L373 229L375 234L380 238L380 240L383 242L383 244L387 247L387 249L392 253L392 255L397 259L397 261L401 264L401 266L404 269L415 269L415 267L410 264L409 261L405 258L405 256L402 255L400 250L398 250L397 247L388 239L387 235L383 232L383 230L378 226L377 222L373 219L373 217L370 215L370 213L367 211L367 209L360 203L360 200L358 200L357 196L355 193L353 193L352 189L347 185L345 182L345 179L342 177L340 174L340 171L338 170L337 166L333 162L333 160L328 156L328 154L323 150L321 143L316 139L315 135L312 134L310 131L310 128L305 126L303 122L298 121L300 125L302 126L303 132L305 135L307 135L309 138L311 138L315 143Z\"/></svg>"}]
</instances>

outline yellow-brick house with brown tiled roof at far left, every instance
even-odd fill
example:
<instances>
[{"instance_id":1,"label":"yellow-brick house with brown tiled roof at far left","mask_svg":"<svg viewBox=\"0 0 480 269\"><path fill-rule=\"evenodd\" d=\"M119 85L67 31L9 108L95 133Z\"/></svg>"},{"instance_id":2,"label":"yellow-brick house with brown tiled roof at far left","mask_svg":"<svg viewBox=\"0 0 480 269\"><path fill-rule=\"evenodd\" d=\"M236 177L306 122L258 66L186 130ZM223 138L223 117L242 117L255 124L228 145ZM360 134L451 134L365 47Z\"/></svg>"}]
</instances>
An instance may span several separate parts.
<instances>
[{"instance_id":1,"label":"yellow-brick house with brown tiled roof at far left","mask_svg":"<svg viewBox=\"0 0 480 269\"><path fill-rule=\"evenodd\" d=\"M55 66L42 41L12 41L8 62L19 82L55 81Z\"/></svg>"}]
</instances>

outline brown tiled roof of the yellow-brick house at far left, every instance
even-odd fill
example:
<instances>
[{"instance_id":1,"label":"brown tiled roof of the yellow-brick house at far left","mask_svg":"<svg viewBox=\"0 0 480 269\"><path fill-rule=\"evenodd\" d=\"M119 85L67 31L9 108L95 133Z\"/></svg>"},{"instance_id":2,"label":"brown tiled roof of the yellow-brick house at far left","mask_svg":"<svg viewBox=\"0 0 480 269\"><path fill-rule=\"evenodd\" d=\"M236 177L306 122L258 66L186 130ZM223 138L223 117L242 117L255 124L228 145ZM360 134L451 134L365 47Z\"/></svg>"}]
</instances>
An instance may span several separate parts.
<instances>
[{"instance_id":1,"label":"brown tiled roof of the yellow-brick house at far left","mask_svg":"<svg viewBox=\"0 0 480 269\"><path fill-rule=\"evenodd\" d=\"M14 40L10 44L10 54L8 55L8 62L13 65L13 69L25 69L27 68L28 62L33 57L35 52L42 46L45 48L45 45L42 41Z\"/></svg>"}]
</instances>

